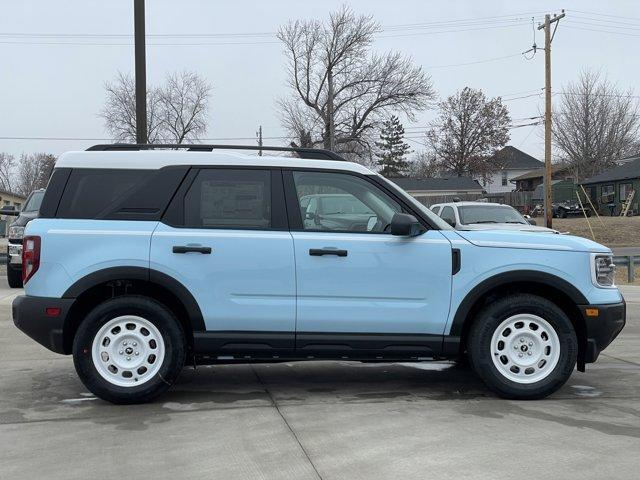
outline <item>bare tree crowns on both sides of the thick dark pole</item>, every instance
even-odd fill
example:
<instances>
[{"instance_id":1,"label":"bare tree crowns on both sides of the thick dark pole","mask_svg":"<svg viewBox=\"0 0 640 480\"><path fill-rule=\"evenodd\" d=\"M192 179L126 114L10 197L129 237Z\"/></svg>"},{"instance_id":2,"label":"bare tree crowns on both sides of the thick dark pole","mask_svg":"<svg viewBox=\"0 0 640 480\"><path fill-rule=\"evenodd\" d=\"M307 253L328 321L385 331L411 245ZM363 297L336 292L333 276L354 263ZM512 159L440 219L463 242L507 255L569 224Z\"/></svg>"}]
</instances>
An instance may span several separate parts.
<instances>
[{"instance_id":1,"label":"bare tree crowns on both sides of the thick dark pole","mask_svg":"<svg viewBox=\"0 0 640 480\"><path fill-rule=\"evenodd\" d=\"M114 140L136 141L135 81L118 73L105 84L107 99L100 111L105 128ZM182 143L197 140L207 130L206 114L210 85L196 73L167 76L164 85L147 89L147 139L149 143Z\"/></svg>"}]
</instances>

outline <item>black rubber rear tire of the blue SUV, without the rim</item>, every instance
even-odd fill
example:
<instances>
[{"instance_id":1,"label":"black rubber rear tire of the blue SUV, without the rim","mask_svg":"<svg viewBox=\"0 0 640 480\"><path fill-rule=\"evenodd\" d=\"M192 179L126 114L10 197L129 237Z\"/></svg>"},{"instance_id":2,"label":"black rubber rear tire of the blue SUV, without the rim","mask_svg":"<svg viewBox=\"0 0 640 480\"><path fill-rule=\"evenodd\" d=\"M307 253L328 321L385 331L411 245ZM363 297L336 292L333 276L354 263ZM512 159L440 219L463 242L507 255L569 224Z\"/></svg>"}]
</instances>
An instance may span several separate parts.
<instances>
[{"instance_id":1,"label":"black rubber rear tire of the blue SUV, without the rim","mask_svg":"<svg viewBox=\"0 0 640 480\"><path fill-rule=\"evenodd\" d=\"M109 320L122 315L137 315L153 323L164 341L165 356L158 372L145 383L121 387L104 379L96 370L92 344L96 334ZM76 372L96 396L112 403L144 403L166 391L177 379L185 362L184 334L178 320L162 304L141 296L123 296L95 307L80 324L73 342Z\"/></svg>"}]
</instances>

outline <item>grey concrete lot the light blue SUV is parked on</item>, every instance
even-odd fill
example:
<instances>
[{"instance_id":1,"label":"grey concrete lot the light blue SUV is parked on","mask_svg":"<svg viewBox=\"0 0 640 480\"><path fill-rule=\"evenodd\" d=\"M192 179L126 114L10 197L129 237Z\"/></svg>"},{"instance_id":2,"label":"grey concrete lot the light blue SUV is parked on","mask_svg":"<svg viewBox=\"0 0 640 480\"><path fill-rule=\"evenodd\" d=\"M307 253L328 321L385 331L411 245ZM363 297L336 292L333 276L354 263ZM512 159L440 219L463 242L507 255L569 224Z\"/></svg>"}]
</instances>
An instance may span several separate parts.
<instances>
[{"instance_id":1,"label":"grey concrete lot the light blue SUV is parked on","mask_svg":"<svg viewBox=\"0 0 640 480\"><path fill-rule=\"evenodd\" d=\"M0 286L1 479L637 479L640 287L629 322L552 398L494 397L448 363L186 369L150 405L88 394Z\"/></svg>"}]
</instances>

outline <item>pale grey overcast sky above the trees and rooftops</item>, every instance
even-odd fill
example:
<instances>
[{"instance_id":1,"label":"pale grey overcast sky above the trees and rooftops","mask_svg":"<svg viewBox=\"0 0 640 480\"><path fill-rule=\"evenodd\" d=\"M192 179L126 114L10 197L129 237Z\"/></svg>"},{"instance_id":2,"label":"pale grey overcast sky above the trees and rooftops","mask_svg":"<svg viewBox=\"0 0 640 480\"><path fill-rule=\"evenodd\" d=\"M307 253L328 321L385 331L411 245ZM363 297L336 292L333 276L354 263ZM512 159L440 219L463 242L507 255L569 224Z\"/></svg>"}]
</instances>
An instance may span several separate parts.
<instances>
[{"instance_id":1,"label":"pale grey overcast sky above the trees and rooftops","mask_svg":"<svg viewBox=\"0 0 640 480\"><path fill-rule=\"evenodd\" d=\"M274 32L289 19L325 19L342 4L373 15L384 28L373 49L411 56L440 97L481 88L503 97L514 124L530 123L543 106L544 53L519 55L533 43L532 16L537 25L546 12L567 11L553 44L556 91L582 69L624 88L640 78L637 0L147 0L147 81L196 71L213 85L206 137L255 143L261 124L265 144L281 145L269 139L284 133L275 101L290 92ZM132 42L133 0L0 0L0 151L59 154L106 139L97 116L104 82L118 70L133 73ZM536 42L543 46L542 32ZM405 125L417 150L434 113ZM541 133L541 126L513 129L510 143L542 158Z\"/></svg>"}]
</instances>

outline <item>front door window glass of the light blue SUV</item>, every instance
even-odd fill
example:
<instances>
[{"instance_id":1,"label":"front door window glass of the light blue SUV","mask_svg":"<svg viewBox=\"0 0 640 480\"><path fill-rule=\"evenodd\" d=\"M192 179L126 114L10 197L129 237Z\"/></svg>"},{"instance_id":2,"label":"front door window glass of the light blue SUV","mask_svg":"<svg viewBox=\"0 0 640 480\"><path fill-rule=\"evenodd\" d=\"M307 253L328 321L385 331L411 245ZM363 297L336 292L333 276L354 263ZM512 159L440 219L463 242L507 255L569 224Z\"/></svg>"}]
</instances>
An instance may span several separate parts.
<instances>
[{"instance_id":1,"label":"front door window glass of the light blue SUV","mask_svg":"<svg viewBox=\"0 0 640 480\"><path fill-rule=\"evenodd\" d=\"M293 180L305 230L383 233L402 211L385 192L354 175L294 172Z\"/></svg>"}]
</instances>

